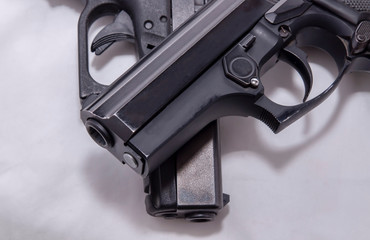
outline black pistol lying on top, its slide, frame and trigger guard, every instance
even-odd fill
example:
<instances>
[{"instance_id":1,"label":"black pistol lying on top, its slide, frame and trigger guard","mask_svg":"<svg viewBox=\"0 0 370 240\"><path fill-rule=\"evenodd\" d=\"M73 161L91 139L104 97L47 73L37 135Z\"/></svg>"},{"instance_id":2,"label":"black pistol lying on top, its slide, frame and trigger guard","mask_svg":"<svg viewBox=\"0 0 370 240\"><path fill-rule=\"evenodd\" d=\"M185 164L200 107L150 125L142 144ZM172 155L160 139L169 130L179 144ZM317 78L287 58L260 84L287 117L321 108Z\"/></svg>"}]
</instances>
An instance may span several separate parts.
<instances>
[{"instance_id":1,"label":"black pistol lying on top, its slide, frame and trigger guard","mask_svg":"<svg viewBox=\"0 0 370 240\"><path fill-rule=\"evenodd\" d=\"M274 132L281 131L323 102L350 69L351 59L358 57L348 52L350 41L343 40L355 35L354 23L360 14L337 1L313 2L317 5L297 14L287 7L306 9L308 5L284 1L276 8L264 1L235 1L234 5L214 1L84 107L83 121L94 118L109 129L116 144L108 150L117 158L122 160L127 151L135 152L140 162L135 171L144 176L221 116L253 116ZM225 15L219 16L220 11ZM288 20L271 24L264 15L274 11L283 12L283 19ZM219 20L215 22L215 18ZM208 30L202 32L205 26ZM287 34L282 34L282 26ZM223 34L231 28L230 34ZM246 50L241 45L248 34L256 40ZM193 45L187 45L189 39ZM258 82L266 70L282 59L290 61L302 74L307 99L312 85L309 65L302 52L293 50L306 45L324 49L338 65L338 78L321 95L296 106L281 106L263 95L262 84L246 88L249 81ZM178 48L180 53L176 53ZM221 57L228 49L232 50ZM229 66L228 77L222 62ZM243 68L243 63L248 66ZM243 84L229 81L230 76Z\"/></svg>"}]
</instances>

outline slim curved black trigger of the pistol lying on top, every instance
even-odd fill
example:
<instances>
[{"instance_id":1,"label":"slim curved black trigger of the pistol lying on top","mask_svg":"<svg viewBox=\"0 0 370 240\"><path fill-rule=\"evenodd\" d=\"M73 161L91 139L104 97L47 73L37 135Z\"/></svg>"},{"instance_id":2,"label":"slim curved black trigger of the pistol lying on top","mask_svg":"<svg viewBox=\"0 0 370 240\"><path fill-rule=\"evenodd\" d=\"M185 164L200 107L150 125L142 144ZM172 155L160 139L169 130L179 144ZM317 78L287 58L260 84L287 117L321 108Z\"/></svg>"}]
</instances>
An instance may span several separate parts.
<instances>
[{"instance_id":1,"label":"slim curved black trigger of the pistol lying on top","mask_svg":"<svg viewBox=\"0 0 370 240\"><path fill-rule=\"evenodd\" d=\"M294 44L284 48L280 52L279 59L295 68L301 75L305 86L305 94L303 97L303 102L305 102L310 95L313 84L312 70L307 61L307 54Z\"/></svg>"}]
</instances>

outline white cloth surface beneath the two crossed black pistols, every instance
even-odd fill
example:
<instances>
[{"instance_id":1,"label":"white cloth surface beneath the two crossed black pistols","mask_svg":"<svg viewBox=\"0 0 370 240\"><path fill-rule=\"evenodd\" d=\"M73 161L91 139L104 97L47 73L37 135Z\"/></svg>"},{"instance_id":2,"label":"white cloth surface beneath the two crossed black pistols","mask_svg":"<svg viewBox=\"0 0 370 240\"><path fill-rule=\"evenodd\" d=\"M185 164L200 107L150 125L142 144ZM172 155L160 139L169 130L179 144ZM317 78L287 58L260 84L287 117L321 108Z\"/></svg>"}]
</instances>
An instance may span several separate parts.
<instances>
[{"instance_id":1,"label":"white cloth surface beneath the two crossed black pistols","mask_svg":"<svg viewBox=\"0 0 370 240\"><path fill-rule=\"evenodd\" d=\"M140 177L99 148L79 119L82 7L78 0L2 1L0 239L370 238L368 74L347 76L278 135L254 119L222 119L230 204L211 223L157 219L145 212ZM335 71L326 56L312 56L318 93ZM92 71L118 76L134 57L125 59L115 57L110 70L94 59ZM286 65L268 75L273 99L302 97Z\"/></svg>"}]
</instances>

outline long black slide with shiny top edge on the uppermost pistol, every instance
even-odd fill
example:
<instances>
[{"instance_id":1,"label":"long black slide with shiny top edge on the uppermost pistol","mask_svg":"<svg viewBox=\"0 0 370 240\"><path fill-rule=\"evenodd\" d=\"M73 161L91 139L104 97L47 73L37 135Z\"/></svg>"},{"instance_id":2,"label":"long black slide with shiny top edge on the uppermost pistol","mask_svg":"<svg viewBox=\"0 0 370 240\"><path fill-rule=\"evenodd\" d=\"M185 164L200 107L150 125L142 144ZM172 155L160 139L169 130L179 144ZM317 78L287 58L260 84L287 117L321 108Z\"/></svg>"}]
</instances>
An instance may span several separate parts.
<instances>
[{"instance_id":1,"label":"long black slide with shiny top edge on the uppermost pistol","mask_svg":"<svg viewBox=\"0 0 370 240\"><path fill-rule=\"evenodd\" d=\"M223 19L228 17L225 11L232 11L241 2L238 0L230 5L230 2L215 1L210 4L205 11L209 14L198 17L177 31L178 34L166 39L163 44L166 47L154 50L143 59L145 63L137 64L137 68L134 67L110 86L108 91L86 109L86 116L83 117L88 118L88 112L91 112L101 118L122 122L115 132L124 141L128 141L242 34L235 31L228 36L221 35L223 28L241 24L238 14L230 16L233 19ZM243 7L245 6L238 9ZM223 21L218 24L220 20ZM217 26L212 26L215 24ZM243 28L240 29L244 32ZM209 33L204 35L205 31ZM193 64L189 59L198 59L198 62Z\"/></svg>"}]
</instances>

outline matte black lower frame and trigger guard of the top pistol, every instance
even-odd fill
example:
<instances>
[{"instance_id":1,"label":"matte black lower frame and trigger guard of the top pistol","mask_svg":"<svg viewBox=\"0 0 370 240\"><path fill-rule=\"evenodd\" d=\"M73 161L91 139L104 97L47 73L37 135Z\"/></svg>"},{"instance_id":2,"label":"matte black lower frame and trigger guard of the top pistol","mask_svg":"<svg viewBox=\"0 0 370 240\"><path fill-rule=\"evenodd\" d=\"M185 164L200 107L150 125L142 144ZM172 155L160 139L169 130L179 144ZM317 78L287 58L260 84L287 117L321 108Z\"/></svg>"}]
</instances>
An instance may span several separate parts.
<instances>
[{"instance_id":1,"label":"matte black lower frame and trigger guard of the top pistol","mask_svg":"<svg viewBox=\"0 0 370 240\"><path fill-rule=\"evenodd\" d=\"M345 47L335 36L350 39L354 26L317 7L310 8L297 19L287 21L286 25L292 29L292 36L283 39L277 34L277 27L270 26L262 19L251 31L258 36L256 43L243 55L235 57L248 57L255 62L257 69L268 69L269 61L272 59L273 63L276 62L285 45L297 39L299 45L323 48L336 59L340 72L337 80L323 94L306 103L281 106L267 99L262 88L244 89L230 84L224 78L223 69L219 69L221 65L216 63L130 140L137 151L148 159L149 169L155 169L161 159L172 154L168 151L178 149L215 118L232 114L254 116L264 121L273 131L279 132L319 105L335 90L349 66ZM323 32L326 34L319 32L320 35L317 35L318 28L325 29ZM300 37L303 35L305 37ZM239 45L236 49L238 48ZM240 50L242 51L244 50ZM259 73L252 77L259 77ZM208 89L207 92L204 89Z\"/></svg>"}]
</instances>

